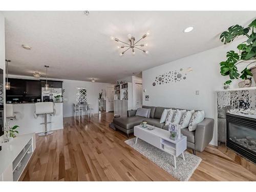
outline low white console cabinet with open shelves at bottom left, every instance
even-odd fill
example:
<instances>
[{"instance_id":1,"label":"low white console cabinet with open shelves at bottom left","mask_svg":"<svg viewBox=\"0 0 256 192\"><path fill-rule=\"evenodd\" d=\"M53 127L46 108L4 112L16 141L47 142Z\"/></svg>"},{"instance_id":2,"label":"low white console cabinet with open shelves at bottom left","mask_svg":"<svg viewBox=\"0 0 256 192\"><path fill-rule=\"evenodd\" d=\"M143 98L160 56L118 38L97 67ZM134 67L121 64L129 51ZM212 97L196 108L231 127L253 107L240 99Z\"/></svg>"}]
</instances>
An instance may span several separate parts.
<instances>
[{"instance_id":1,"label":"low white console cabinet with open shelves at bottom left","mask_svg":"<svg viewBox=\"0 0 256 192\"><path fill-rule=\"evenodd\" d=\"M35 134L18 135L1 145L0 181L18 181L35 150Z\"/></svg>"}]
</instances>

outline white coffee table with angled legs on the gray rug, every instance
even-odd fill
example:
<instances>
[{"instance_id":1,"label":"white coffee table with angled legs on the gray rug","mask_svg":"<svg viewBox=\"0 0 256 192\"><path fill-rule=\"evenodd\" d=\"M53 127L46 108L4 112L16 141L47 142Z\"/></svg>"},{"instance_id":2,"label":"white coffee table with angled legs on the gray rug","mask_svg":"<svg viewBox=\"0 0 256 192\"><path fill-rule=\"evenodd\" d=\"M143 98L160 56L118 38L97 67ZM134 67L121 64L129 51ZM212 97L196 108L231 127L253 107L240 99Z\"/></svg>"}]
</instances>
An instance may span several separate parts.
<instances>
[{"instance_id":1,"label":"white coffee table with angled legs on the gray rug","mask_svg":"<svg viewBox=\"0 0 256 192\"><path fill-rule=\"evenodd\" d=\"M148 127L154 128L154 130L148 130ZM134 126L134 135L136 136L136 144L138 138L152 144L153 146L160 148L160 150L172 155L174 157L174 167L176 168L176 157L182 155L183 160L184 151L187 149L187 137L182 135L180 139L172 140L169 138L170 133L166 130L158 127L147 125L146 128L140 125Z\"/></svg>"}]
</instances>

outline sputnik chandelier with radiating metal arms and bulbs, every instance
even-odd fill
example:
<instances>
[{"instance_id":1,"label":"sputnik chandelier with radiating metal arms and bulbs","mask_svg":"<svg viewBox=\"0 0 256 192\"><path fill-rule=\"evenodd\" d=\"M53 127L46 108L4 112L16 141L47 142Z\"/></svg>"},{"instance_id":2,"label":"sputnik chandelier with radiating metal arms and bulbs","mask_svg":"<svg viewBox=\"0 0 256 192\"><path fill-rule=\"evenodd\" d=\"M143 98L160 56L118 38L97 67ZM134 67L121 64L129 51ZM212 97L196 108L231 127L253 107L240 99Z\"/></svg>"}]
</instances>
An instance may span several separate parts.
<instances>
[{"instance_id":1,"label":"sputnik chandelier with radiating metal arms and bulbs","mask_svg":"<svg viewBox=\"0 0 256 192\"><path fill-rule=\"evenodd\" d=\"M127 35L128 40L130 41L129 43L121 41L118 38L115 38L113 36L111 36L111 40L115 40L118 42L122 42L125 45L122 46L118 46L117 48L121 48L124 49L124 51L122 51L119 55L122 56L126 51L128 51L129 49L132 49L132 53L133 55L135 55L135 49L138 49L140 51L143 51L144 53L148 54L148 51L144 50L144 49L140 49L139 47L146 47L147 44L138 44L138 42L142 39L144 39L146 36L150 35L149 32L147 32L146 34L144 34L138 41L135 41L135 37L133 37L131 34Z\"/></svg>"}]
</instances>

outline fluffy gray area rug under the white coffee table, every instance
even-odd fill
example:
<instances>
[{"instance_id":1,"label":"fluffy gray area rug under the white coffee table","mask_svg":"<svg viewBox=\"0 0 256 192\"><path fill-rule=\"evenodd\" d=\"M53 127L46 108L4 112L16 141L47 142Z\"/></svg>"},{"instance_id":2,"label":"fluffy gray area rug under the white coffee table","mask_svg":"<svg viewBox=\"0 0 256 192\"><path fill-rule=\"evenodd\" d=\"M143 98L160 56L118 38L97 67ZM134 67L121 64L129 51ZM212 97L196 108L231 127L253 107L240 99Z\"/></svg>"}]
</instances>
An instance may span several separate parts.
<instances>
[{"instance_id":1,"label":"fluffy gray area rug under the white coffee table","mask_svg":"<svg viewBox=\"0 0 256 192\"><path fill-rule=\"evenodd\" d=\"M200 157L184 152L185 161L182 159L182 155L177 157L177 168L175 169L172 155L169 155L141 139L138 139L135 145L135 140L136 138L132 138L124 142L180 181L188 181L202 161Z\"/></svg>"}]
</instances>

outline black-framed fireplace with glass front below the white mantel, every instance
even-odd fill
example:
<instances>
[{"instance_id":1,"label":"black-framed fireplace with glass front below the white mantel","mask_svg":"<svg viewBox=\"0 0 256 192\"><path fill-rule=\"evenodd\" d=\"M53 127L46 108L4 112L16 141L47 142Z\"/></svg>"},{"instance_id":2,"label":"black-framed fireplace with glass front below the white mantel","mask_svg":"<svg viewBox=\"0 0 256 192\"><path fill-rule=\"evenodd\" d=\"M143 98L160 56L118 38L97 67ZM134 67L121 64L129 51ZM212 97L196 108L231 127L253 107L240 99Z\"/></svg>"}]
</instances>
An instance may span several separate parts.
<instances>
[{"instance_id":1,"label":"black-framed fireplace with glass front below the white mantel","mask_svg":"<svg viewBox=\"0 0 256 192\"><path fill-rule=\"evenodd\" d=\"M256 163L256 119L226 114L226 146Z\"/></svg>"}]
</instances>

